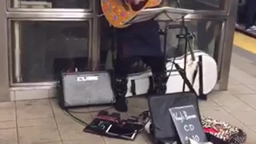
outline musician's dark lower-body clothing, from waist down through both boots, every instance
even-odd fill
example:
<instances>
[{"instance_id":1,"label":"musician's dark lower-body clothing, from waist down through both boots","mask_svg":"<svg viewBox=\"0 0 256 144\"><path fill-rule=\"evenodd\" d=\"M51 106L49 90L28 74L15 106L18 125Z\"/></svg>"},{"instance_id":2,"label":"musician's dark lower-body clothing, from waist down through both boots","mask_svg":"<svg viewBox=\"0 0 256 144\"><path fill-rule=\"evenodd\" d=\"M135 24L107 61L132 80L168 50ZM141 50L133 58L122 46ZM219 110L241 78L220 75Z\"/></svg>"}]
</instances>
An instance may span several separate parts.
<instances>
[{"instance_id":1,"label":"musician's dark lower-body clothing, from waist down through both boots","mask_svg":"<svg viewBox=\"0 0 256 144\"><path fill-rule=\"evenodd\" d=\"M127 28L116 29L117 60L115 64L115 92L117 100L115 108L127 111L125 95L127 93L127 75L132 64L140 56L144 63L151 67L154 84L151 93L166 92L166 72L164 54L161 51L158 22L148 20L132 24Z\"/></svg>"}]
</instances>

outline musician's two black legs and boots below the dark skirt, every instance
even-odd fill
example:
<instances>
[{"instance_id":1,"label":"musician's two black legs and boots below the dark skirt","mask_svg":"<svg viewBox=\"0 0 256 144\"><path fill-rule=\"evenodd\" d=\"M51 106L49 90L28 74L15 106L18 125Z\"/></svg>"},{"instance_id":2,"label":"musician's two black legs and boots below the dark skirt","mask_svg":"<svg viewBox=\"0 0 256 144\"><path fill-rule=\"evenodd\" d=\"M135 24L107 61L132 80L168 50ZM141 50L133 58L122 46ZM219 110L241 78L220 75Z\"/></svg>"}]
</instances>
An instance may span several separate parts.
<instances>
[{"instance_id":1,"label":"musician's two black legs and boots below the dark skirt","mask_svg":"<svg viewBox=\"0 0 256 144\"><path fill-rule=\"evenodd\" d=\"M154 84L148 89L149 94L164 94L166 92L166 66L164 56L141 56L143 62L151 67ZM115 92L117 101L116 110L127 111L125 95L127 93L127 75L134 64L136 57L118 58L115 65Z\"/></svg>"}]
</instances>

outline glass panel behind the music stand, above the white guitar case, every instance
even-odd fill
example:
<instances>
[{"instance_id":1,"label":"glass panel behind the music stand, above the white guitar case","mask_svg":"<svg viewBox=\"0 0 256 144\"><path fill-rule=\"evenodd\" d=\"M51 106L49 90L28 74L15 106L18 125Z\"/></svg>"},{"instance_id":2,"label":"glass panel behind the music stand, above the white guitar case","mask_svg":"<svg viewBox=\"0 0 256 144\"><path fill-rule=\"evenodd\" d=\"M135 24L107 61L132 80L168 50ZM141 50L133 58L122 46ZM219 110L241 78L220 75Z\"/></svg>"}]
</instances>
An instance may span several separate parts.
<instances>
[{"instance_id":1,"label":"glass panel behind the music stand, above the white guitar case","mask_svg":"<svg viewBox=\"0 0 256 144\"><path fill-rule=\"evenodd\" d=\"M190 41L191 47L194 50L202 50L212 57L215 57L215 52L218 51L218 36L220 36L220 26L222 22L220 21L190 21L186 22L188 27L188 32L193 32L195 34L194 44ZM160 23L163 29L166 24ZM166 54L168 57L181 56L184 54L185 41L180 40L178 45L177 34L184 34L180 28L172 28L168 30L167 34L167 44L166 44ZM164 49L164 37L161 36L162 49Z\"/></svg>"}]
</instances>

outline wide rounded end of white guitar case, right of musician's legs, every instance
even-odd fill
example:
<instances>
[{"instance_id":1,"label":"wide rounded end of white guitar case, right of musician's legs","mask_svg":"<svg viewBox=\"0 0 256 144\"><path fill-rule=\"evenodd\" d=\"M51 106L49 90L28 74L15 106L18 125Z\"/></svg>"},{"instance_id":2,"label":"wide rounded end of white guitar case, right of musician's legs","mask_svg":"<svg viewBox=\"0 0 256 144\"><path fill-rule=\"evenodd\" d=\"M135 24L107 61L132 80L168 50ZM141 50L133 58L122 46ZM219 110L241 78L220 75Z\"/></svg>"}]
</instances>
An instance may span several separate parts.
<instances>
[{"instance_id":1,"label":"wide rounded end of white guitar case, right of musician's legs","mask_svg":"<svg viewBox=\"0 0 256 144\"><path fill-rule=\"evenodd\" d=\"M191 60L191 54L187 54L186 64L186 76L196 93L200 96L206 95L212 91L217 83L217 64L215 60L200 50L194 50L195 61ZM173 58L168 59L166 69L171 70ZM180 56L175 59L181 68L184 68L184 56ZM176 70L173 67L172 70ZM182 92L183 79L178 72L172 72L167 82L167 93ZM200 92L200 89L202 91ZM188 86L185 87L185 91L189 91Z\"/></svg>"}]
</instances>

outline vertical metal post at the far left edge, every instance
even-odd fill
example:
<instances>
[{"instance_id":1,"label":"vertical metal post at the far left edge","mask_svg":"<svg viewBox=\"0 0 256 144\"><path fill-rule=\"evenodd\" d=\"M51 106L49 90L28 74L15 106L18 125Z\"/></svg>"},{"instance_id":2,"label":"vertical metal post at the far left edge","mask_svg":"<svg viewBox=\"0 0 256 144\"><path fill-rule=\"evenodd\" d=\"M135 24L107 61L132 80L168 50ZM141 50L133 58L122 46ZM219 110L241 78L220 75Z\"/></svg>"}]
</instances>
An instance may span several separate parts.
<instances>
[{"instance_id":1,"label":"vertical metal post at the far left edge","mask_svg":"<svg viewBox=\"0 0 256 144\"><path fill-rule=\"evenodd\" d=\"M0 0L0 102L10 101L6 0Z\"/></svg>"}]
</instances>

